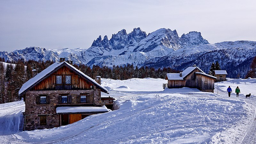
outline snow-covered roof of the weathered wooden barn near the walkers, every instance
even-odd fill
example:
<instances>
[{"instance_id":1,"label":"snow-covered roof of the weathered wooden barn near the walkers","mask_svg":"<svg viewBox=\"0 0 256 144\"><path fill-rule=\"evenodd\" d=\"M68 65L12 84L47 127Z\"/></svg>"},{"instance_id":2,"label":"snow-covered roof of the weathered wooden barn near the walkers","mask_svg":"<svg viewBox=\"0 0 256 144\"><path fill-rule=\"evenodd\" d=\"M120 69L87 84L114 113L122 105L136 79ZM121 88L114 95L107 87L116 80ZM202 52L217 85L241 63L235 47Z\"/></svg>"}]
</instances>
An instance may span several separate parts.
<instances>
[{"instance_id":1,"label":"snow-covered roof of the weathered wooden barn near the walkers","mask_svg":"<svg viewBox=\"0 0 256 144\"><path fill-rule=\"evenodd\" d=\"M182 76L180 76L180 73L167 73L166 76L168 80L184 80L184 77L188 76L193 70L195 70L198 67L188 67L182 72ZM198 68L199 71L204 73L200 68Z\"/></svg>"}]
</instances>

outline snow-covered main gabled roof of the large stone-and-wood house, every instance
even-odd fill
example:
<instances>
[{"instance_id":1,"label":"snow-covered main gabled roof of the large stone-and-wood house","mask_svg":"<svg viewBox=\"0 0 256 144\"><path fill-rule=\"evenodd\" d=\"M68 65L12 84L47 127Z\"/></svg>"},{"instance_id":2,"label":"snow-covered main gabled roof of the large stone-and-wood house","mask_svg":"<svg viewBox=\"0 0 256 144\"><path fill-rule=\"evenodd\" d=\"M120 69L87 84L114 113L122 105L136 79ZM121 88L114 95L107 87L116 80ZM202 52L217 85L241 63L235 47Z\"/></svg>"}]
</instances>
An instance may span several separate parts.
<instances>
[{"instance_id":1,"label":"snow-covered main gabled roof of the large stone-and-wood house","mask_svg":"<svg viewBox=\"0 0 256 144\"><path fill-rule=\"evenodd\" d=\"M41 71L40 73L38 73L35 77L29 79L25 84L22 85L22 87L20 88L19 91L19 95L24 94L25 92L27 92L30 88L32 88L33 86L35 86L36 84L38 84L39 82L41 82L42 80L44 80L47 76L51 75L53 72L55 72L56 70L58 70L59 68L61 68L63 65L66 65L67 67L69 67L70 69L74 70L77 74L81 75L84 77L84 79L88 80L89 82L91 82L92 84L94 84L96 87L100 88L103 92L108 93L108 90L106 88L104 88L103 86L101 86L100 84L98 84L96 81L94 81L91 77L86 76L83 72L81 72L80 70L76 69L75 67L73 67L72 65L70 65L69 63L67 63L66 61L63 62L55 62L52 65L50 65L48 68L45 68L43 71Z\"/></svg>"}]
</instances>

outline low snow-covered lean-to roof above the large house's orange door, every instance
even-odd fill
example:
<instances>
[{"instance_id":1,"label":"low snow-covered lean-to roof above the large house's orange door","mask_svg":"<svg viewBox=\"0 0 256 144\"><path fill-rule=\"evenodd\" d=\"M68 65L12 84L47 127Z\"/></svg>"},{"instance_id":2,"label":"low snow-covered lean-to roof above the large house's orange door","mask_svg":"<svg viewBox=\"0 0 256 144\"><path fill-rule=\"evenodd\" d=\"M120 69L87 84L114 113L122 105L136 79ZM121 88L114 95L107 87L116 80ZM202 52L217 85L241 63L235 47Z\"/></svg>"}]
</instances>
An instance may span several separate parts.
<instances>
[{"instance_id":1,"label":"low snow-covered lean-to roof above the large house's orange door","mask_svg":"<svg viewBox=\"0 0 256 144\"><path fill-rule=\"evenodd\" d=\"M92 112L108 112L106 106L102 107L58 107L56 113L92 113Z\"/></svg>"}]
</instances>

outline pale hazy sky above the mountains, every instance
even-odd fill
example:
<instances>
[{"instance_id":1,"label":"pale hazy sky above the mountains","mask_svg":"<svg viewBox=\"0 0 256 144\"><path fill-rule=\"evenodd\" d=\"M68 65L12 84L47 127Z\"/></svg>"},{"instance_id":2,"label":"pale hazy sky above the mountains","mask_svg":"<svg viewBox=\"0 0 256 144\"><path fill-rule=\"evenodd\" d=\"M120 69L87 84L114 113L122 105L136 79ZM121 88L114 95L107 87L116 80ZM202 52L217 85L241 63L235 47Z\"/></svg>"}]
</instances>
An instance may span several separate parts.
<instances>
[{"instance_id":1,"label":"pale hazy sky above the mountains","mask_svg":"<svg viewBox=\"0 0 256 144\"><path fill-rule=\"evenodd\" d=\"M122 29L201 32L214 44L256 41L254 0L0 0L0 51L89 48Z\"/></svg>"}]
</instances>

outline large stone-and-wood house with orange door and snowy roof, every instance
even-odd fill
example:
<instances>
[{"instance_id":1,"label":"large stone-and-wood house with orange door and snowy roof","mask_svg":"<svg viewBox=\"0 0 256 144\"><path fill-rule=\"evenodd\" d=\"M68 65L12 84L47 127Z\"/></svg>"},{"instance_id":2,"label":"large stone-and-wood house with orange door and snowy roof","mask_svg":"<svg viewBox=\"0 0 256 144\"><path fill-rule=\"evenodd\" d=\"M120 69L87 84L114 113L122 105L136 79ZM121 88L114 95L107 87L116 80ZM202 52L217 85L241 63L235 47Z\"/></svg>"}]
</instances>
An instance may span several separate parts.
<instances>
[{"instance_id":1,"label":"large stone-and-wood house with orange door and snowy roof","mask_svg":"<svg viewBox=\"0 0 256 144\"><path fill-rule=\"evenodd\" d=\"M86 116L108 112L101 105L101 92L108 90L73 67L72 62L56 62L22 85L25 101L24 130L67 125Z\"/></svg>"}]
</instances>

